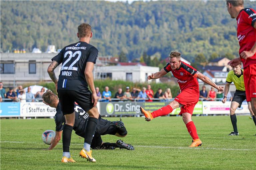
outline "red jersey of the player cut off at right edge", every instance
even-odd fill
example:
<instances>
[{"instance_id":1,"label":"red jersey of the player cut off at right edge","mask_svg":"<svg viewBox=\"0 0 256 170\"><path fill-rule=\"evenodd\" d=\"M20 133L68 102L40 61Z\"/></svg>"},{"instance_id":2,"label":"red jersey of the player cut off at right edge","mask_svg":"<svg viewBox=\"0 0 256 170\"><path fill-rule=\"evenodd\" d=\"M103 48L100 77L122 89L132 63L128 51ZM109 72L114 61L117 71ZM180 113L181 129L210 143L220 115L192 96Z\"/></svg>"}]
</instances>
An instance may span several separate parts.
<instances>
[{"instance_id":1,"label":"red jersey of the player cut off at right edge","mask_svg":"<svg viewBox=\"0 0 256 170\"><path fill-rule=\"evenodd\" d=\"M256 22L256 12L251 8L245 8L240 11L237 18L237 39L240 45L239 55L243 51L249 51L252 49L256 42L256 29L253 27ZM247 58L243 59L241 56L243 66L246 67L250 64L256 63L256 53Z\"/></svg>"}]
</instances>

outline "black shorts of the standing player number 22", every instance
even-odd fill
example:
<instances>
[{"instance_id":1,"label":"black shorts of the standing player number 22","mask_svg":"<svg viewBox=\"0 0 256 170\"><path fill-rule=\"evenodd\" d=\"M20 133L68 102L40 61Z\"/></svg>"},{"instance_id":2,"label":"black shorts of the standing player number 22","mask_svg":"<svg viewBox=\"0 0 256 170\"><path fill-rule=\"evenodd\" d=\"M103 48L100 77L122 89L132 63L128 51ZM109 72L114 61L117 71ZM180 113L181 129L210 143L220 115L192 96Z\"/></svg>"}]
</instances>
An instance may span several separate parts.
<instances>
[{"instance_id":1,"label":"black shorts of the standing player number 22","mask_svg":"<svg viewBox=\"0 0 256 170\"><path fill-rule=\"evenodd\" d=\"M63 115L73 113L74 102L85 111L88 112L93 108L92 93L88 90L87 92L77 92L74 90L58 90L58 96L61 104L61 111Z\"/></svg>"}]
</instances>

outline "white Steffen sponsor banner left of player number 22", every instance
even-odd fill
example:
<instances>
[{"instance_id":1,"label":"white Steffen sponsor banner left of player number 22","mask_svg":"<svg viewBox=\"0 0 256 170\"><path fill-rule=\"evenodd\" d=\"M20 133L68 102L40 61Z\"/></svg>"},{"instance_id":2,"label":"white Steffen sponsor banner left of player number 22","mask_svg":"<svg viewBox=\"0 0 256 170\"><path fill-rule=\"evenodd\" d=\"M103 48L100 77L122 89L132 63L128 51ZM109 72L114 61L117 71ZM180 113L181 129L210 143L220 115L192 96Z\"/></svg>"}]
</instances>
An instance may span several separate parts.
<instances>
[{"instance_id":1,"label":"white Steffen sponsor banner left of player number 22","mask_svg":"<svg viewBox=\"0 0 256 170\"><path fill-rule=\"evenodd\" d=\"M21 117L51 117L56 114L56 109L43 102L20 103Z\"/></svg>"}]
</instances>

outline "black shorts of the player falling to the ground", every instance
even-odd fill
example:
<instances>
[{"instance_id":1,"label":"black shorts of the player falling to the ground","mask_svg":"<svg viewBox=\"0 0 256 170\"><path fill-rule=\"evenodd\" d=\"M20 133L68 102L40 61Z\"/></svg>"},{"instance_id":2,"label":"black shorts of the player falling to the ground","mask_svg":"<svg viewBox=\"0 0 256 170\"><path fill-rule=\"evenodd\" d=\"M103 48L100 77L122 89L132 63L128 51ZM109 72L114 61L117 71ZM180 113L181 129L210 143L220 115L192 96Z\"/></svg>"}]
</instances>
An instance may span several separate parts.
<instances>
[{"instance_id":1,"label":"black shorts of the player falling to the ground","mask_svg":"<svg viewBox=\"0 0 256 170\"><path fill-rule=\"evenodd\" d=\"M100 119L100 122L96 128L94 137L92 139L91 148L99 149L102 144L101 135L117 133L117 128L111 126L111 122L105 119Z\"/></svg>"}]
</instances>

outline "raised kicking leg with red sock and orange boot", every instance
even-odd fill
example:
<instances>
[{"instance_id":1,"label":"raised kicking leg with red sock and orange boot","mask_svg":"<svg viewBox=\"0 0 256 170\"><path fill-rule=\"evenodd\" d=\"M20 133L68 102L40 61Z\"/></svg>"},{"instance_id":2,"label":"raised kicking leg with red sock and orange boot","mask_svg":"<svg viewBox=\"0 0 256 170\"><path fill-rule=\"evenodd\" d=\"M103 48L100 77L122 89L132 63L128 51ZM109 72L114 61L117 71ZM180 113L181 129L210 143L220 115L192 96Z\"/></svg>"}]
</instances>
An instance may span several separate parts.
<instances>
[{"instance_id":1,"label":"raised kicking leg with red sock and orange boot","mask_svg":"<svg viewBox=\"0 0 256 170\"><path fill-rule=\"evenodd\" d=\"M156 117L168 115L169 113L171 113L173 111L173 109L176 109L181 106L183 106L183 105L181 105L177 101L173 100L167 106L164 106L152 113L144 110L142 107L140 107L140 112L145 116L146 121L151 121L152 119L154 119Z\"/></svg>"}]
</instances>

